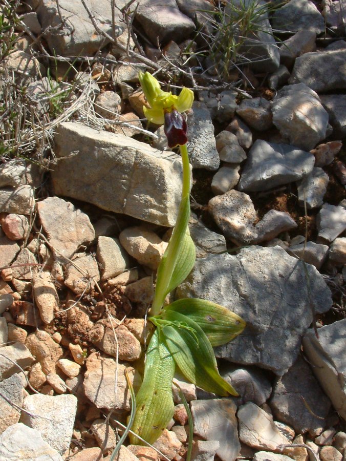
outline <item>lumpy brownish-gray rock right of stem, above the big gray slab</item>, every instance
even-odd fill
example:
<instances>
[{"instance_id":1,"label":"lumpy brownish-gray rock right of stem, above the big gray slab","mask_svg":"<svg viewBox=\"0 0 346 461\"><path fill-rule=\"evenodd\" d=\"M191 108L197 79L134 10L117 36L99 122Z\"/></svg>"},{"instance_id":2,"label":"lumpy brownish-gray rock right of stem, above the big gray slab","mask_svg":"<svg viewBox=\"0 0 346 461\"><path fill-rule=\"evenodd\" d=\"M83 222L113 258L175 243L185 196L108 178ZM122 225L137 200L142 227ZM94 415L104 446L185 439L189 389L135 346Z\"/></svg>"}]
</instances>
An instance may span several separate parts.
<instances>
[{"instance_id":1,"label":"lumpy brownish-gray rock right of stem, above the big gray slab","mask_svg":"<svg viewBox=\"0 0 346 461\"><path fill-rule=\"evenodd\" d=\"M208 208L224 235L233 242L247 245L257 237L253 226L256 212L247 194L232 189L210 199Z\"/></svg>"}]
</instances>

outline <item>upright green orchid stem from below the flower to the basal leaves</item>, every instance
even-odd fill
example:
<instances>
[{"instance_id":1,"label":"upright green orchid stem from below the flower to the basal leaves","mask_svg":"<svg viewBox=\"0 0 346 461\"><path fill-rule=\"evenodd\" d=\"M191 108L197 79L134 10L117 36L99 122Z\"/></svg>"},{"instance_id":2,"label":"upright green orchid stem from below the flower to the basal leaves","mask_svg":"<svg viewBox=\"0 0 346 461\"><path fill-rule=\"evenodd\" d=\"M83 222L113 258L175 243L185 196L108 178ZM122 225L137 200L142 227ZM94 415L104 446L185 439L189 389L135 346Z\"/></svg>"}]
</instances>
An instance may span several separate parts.
<instances>
[{"instance_id":1,"label":"upright green orchid stem from below the flower to the basal leaves","mask_svg":"<svg viewBox=\"0 0 346 461\"><path fill-rule=\"evenodd\" d=\"M169 285L170 279L172 277L174 268L177 263L177 258L179 256L179 250L183 243L182 235L185 233L186 227L188 226L188 220L190 217L190 208L188 208L188 213L186 213L186 207L183 205L184 199L189 200L190 195L190 162L186 144L180 145L179 147L183 162L183 188L181 194L181 201L176 225L174 226L171 238L168 242L168 246L164 254L164 258L166 259L167 264L165 265L164 273L162 274L160 293L158 293L157 289L155 292L152 308L150 309L151 316L157 316L161 310L164 301L164 299L162 299L161 294ZM184 233L182 233L182 226L184 227Z\"/></svg>"}]
</instances>

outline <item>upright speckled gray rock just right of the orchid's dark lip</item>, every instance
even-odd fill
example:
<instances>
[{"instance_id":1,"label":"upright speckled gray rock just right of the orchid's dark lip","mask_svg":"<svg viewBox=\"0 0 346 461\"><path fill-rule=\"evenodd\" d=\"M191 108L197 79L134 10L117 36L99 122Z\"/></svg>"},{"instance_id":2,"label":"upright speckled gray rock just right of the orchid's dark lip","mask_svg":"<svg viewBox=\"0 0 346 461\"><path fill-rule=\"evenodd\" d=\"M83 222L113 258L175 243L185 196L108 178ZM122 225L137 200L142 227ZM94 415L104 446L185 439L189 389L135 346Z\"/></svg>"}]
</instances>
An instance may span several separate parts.
<instances>
[{"instance_id":1,"label":"upright speckled gray rock just right of the orchid's dark lip","mask_svg":"<svg viewBox=\"0 0 346 461\"><path fill-rule=\"evenodd\" d=\"M218 170L220 158L216 149L214 126L204 102L194 101L187 116L188 151L193 168Z\"/></svg>"}]
</instances>

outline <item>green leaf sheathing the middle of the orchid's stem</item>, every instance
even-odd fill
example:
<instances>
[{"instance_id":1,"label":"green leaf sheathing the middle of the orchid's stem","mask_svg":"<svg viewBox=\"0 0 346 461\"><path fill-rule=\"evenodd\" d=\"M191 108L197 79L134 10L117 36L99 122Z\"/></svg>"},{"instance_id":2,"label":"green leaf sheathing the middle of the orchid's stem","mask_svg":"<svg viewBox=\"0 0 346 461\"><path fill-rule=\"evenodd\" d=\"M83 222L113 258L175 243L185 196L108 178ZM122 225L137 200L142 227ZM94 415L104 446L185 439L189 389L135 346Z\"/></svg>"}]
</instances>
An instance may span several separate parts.
<instances>
[{"instance_id":1,"label":"green leaf sheathing the middle of the orchid's stem","mask_svg":"<svg viewBox=\"0 0 346 461\"><path fill-rule=\"evenodd\" d=\"M196 249L188 230L190 202L187 194L182 198L178 219L157 271L153 315L157 315L169 291L182 283L190 273L196 259Z\"/></svg>"}]
</instances>

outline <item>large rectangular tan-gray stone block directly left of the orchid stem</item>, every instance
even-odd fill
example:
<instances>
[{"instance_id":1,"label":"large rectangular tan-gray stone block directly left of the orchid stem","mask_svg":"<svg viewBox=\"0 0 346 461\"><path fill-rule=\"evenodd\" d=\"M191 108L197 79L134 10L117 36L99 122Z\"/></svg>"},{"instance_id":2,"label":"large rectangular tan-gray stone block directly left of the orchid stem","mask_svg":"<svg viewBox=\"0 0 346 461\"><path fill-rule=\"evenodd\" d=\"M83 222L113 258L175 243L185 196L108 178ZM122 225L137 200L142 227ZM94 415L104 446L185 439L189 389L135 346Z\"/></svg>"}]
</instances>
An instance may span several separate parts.
<instances>
[{"instance_id":1,"label":"large rectangular tan-gray stone block directly left of the orchid stem","mask_svg":"<svg viewBox=\"0 0 346 461\"><path fill-rule=\"evenodd\" d=\"M55 154L55 194L155 224L175 224L182 187L179 156L72 122L57 128Z\"/></svg>"}]
</instances>

